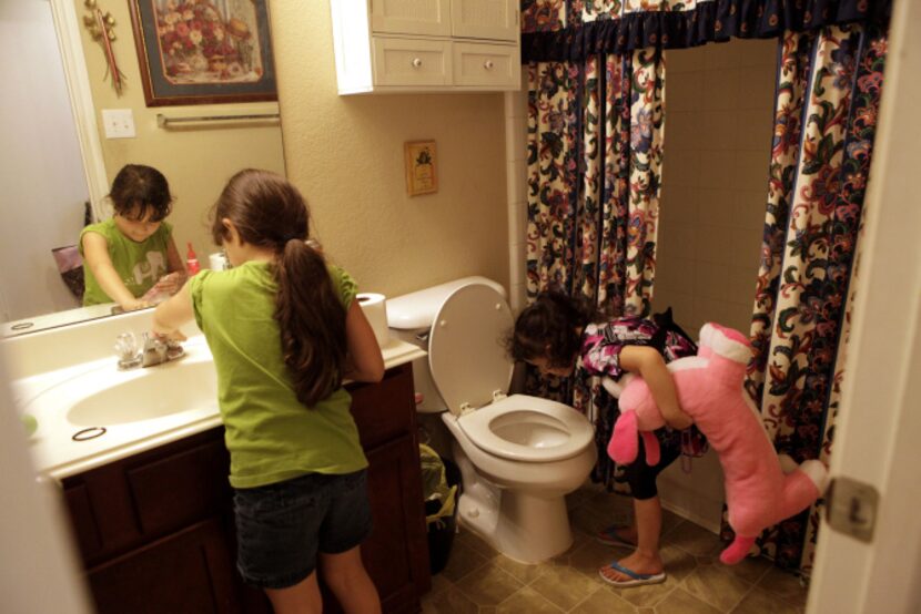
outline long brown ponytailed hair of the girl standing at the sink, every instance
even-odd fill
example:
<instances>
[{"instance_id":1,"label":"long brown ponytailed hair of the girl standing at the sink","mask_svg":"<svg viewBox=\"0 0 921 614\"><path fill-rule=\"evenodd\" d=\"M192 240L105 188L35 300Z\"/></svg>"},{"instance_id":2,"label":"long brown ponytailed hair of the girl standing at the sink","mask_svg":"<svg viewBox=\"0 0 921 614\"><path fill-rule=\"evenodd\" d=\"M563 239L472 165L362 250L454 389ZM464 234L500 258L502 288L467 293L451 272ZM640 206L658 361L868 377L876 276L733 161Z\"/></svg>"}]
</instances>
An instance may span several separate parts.
<instances>
[{"instance_id":1,"label":"long brown ponytailed hair of the girl standing at the sink","mask_svg":"<svg viewBox=\"0 0 921 614\"><path fill-rule=\"evenodd\" d=\"M342 385L345 307L323 255L305 243L310 213L304 197L284 177L247 168L231 177L213 215L211 234L216 244L229 238L222 223L227 218L244 243L275 252L274 317L281 328L282 355L297 400L315 406Z\"/></svg>"}]
</instances>

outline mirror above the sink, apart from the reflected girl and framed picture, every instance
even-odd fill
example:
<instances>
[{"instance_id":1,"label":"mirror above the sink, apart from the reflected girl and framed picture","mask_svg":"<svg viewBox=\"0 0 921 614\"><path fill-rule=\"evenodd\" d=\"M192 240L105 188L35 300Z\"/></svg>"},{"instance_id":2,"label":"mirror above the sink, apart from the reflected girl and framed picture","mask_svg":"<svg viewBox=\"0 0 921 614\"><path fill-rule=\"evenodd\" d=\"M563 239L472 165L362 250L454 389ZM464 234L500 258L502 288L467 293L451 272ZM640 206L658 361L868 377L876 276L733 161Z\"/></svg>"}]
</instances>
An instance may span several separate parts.
<instances>
[{"instance_id":1,"label":"mirror above the sink, apart from the reflected girl and framed picture","mask_svg":"<svg viewBox=\"0 0 921 614\"><path fill-rule=\"evenodd\" d=\"M202 267L216 252L206 214L226 180L244 167L284 173L277 103L146 106L128 4L100 3L115 21L119 94L82 2L0 3L0 49L18 59L0 75L22 84L7 89L0 114L0 337L111 315L111 305L83 308L61 269L85 223L111 216L108 182L123 165L165 175L173 239L183 259L191 244ZM133 136L104 135L112 110L129 116Z\"/></svg>"}]
</instances>

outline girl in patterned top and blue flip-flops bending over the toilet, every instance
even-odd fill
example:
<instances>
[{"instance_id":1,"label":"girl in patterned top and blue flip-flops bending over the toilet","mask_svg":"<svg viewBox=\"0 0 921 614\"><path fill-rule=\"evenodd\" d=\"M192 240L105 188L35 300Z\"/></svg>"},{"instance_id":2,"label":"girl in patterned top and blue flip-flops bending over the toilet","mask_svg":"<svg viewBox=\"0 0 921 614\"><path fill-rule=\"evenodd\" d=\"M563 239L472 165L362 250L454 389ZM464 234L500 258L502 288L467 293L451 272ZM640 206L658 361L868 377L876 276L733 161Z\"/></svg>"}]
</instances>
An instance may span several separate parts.
<instances>
[{"instance_id":1,"label":"girl in patterned top and blue flip-flops bending over the toilet","mask_svg":"<svg viewBox=\"0 0 921 614\"><path fill-rule=\"evenodd\" d=\"M661 335L662 354L654 347L654 339ZM537 367L545 376L568 377L577 366L589 376L615 380L625 372L636 373L649 385L669 427L686 429L692 423L681 410L666 361L694 355L695 348L687 338L668 327L660 328L651 319L605 318L587 301L544 293L518 315L508 346L515 360ZM680 454L680 439L671 429L659 429L656 436L661 449L659 464L646 465L640 449L637 461L625 468L634 499L634 523L608 526L596 535L603 543L634 549L629 556L599 570L603 580L615 586L654 584L666 579L659 554L662 508L656 478Z\"/></svg>"}]
</instances>

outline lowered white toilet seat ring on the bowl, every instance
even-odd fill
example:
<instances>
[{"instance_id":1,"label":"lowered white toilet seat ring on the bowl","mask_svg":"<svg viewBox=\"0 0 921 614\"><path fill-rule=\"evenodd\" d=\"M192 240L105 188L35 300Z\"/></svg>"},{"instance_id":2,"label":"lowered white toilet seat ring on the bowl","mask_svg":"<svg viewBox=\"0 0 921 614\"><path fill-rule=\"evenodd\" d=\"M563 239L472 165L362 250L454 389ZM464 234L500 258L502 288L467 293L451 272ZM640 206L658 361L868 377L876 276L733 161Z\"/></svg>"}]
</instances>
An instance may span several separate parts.
<instances>
[{"instance_id":1,"label":"lowered white toilet seat ring on the bowl","mask_svg":"<svg viewBox=\"0 0 921 614\"><path fill-rule=\"evenodd\" d=\"M519 412L529 416L517 416ZM575 457L595 438L591 424L571 407L526 395L513 395L465 413L457 424L477 448L525 462Z\"/></svg>"}]
</instances>

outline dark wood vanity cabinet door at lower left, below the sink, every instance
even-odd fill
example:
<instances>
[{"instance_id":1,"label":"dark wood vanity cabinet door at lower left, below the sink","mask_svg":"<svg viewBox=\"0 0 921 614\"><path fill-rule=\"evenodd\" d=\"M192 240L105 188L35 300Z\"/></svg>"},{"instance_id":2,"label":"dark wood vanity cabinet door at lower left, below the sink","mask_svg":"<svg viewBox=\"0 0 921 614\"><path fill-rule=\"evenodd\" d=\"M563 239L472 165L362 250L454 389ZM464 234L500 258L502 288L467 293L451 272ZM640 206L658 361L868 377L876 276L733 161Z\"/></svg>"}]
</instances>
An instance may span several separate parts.
<instances>
[{"instance_id":1,"label":"dark wood vanity cabinet door at lower left, below the sink","mask_svg":"<svg viewBox=\"0 0 921 614\"><path fill-rule=\"evenodd\" d=\"M240 612L227 542L209 520L90 570L97 612Z\"/></svg>"}]
</instances>

